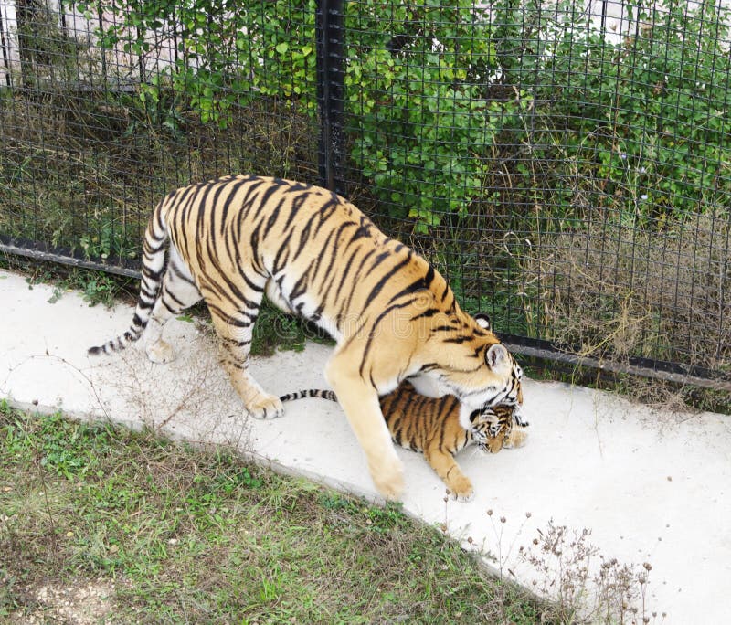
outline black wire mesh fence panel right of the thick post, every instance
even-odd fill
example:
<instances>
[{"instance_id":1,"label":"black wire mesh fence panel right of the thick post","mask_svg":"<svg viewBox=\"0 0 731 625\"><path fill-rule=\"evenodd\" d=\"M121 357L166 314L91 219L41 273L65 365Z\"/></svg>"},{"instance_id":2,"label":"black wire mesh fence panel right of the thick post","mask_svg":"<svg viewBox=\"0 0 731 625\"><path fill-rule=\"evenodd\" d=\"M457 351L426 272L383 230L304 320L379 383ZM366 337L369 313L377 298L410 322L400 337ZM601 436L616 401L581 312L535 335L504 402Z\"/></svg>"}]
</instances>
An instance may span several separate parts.
<instances>
[{"instance_id":1,"label":"black wire mesh fence panel right of the thick post","mask_svg":"<svg viewBox=\"0 0 731 625\"><path fill-rule=\"evenodd\" d=\"M504 333L728 372L729 21L346 3L348 191Z\"/></svg>"}]
</instances>

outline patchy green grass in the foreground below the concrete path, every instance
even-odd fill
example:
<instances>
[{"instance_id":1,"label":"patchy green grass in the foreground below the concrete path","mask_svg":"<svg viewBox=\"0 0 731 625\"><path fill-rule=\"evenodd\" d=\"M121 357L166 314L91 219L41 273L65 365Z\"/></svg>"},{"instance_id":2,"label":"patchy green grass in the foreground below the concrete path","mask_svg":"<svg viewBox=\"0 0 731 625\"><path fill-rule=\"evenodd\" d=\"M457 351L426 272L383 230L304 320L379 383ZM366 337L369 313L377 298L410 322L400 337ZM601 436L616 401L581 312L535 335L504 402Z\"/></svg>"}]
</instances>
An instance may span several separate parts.
<instances>
[{"instance_id":1,"label":"patchy green grass in the foreground below the concrete path","mask_svg":"<svg viewBox=\"0 0 731 625\"><path fill-rule=\"evenodd\" d=\"M54 620L37 589L90 580L107 589L105 622L541 619L397 506L228 450L0 403L0 476L0 620Z\"/></svg>"}]
</instances>

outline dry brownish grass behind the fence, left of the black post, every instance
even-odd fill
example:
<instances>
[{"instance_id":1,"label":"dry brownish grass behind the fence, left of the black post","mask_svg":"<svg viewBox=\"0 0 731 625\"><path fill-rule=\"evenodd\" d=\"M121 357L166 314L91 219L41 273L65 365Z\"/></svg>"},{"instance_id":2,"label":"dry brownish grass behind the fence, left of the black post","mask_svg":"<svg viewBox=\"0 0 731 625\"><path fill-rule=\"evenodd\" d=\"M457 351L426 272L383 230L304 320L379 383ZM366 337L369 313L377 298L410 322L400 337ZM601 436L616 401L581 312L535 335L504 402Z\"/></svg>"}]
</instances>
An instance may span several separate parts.
<instances>
[{"instance_id":1,"label":"dry brownish grass behind the fence, left of the black post","mask_svg":"<svg viewBox=\"0 0 731 625\"><path fill-rule=\"evenodd\" d=\"M316 175L312 122L277 101L238 107L224 131L172 100L50 85L0 93L0 127L0 232L90 258L136 258L154 205L191 180Z\"/></svg>"}]
</instances>

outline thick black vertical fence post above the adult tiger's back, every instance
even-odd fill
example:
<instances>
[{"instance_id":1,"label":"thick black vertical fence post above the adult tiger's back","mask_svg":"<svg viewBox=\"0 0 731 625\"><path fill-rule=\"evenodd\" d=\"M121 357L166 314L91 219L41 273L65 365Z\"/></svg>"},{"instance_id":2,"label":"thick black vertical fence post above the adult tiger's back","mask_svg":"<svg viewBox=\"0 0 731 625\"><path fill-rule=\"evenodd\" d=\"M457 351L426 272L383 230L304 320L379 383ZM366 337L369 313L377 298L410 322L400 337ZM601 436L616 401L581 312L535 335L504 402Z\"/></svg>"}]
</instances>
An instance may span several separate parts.
<instances>
[{"instance_id":1,"label":"thick black vertical fence post above the adult tiger's back","mask_svg":"<svg viewBox=\"0 0 731 625\"><path fill-rule=\"evenodd\" d=\"M320 184L342 196L345 195L343 23L343 0L318 2L316 38Z\"/></svg>"}]
</instances>

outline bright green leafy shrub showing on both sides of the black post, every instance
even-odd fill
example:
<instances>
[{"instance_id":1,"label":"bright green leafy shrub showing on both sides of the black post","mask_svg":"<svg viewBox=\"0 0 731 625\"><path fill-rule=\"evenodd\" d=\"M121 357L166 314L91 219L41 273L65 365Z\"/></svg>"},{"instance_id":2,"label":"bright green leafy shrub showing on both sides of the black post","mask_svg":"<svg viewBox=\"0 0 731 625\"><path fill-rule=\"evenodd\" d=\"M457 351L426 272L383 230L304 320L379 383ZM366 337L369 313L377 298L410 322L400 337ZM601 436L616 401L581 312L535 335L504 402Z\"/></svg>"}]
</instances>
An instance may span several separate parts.
<instances>
[{"instance_id":1,"label":"bright green leafy shrub showing on both sides of the black post","mask_svg":"<svg viewBox=\"0 0 731 625\"><path fill-rule=\"evenodd\" d=\"M98 33L102 47L144 58L157 54L154 41L175 44L171 64L141 86L141 100L156 104L172 89L202 122L222 128L233 106L262 96L316 116L314 0L236 11L218 0L102 4L115 16ZM396 215L409 207L422 224L463 213L482 193L484 146L504 121L504 102L485 92L496 69L488 14L472 7L346 3L349 154L378 199Z\"/></svg>"}]
</instances>

